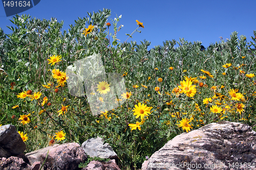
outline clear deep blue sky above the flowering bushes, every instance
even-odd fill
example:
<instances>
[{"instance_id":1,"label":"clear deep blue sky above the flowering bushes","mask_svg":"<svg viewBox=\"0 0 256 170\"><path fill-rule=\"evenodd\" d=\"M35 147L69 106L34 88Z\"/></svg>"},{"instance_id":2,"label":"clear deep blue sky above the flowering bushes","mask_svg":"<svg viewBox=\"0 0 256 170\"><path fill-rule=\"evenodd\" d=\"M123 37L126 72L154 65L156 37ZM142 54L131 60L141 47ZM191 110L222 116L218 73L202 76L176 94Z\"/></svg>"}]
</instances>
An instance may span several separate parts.
<instances>
[{"instance_id":1,"label":"clear deep blue sky above the flowering bushes","mask_svg":"<svg viewBox=\"0 0 256 170\"><path fill-rule=\"evenodd\" d=\"M201 41L207 47L210 43L219 42L220 36L225 40L230 38L233 31L237 31L238 36L245 35L247 41L251 41L250 36L256 30L255 0L41 0L38 5L19 15L30 14L39 19L55 17L59 22L63 20L63 30L68 30L78 17L83 18L88 16L87 12L97 12L103 8L111 9L110 19L122 15L119 23L124 27L117 34L121 42L126 40L125 34L131 34L137 28L136 19L143 22L144 29L140 28L141 33L135 33L129 41L139 43L146 39L151 42L148 50L155 45L162 45L165 40L179 41L182 37L191 42ZM13 26L10 18L6 17L4 6L0 4L0 27L6 34L11 33L6 26Z\"/></svg>"}]
</instances>

